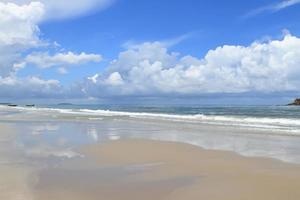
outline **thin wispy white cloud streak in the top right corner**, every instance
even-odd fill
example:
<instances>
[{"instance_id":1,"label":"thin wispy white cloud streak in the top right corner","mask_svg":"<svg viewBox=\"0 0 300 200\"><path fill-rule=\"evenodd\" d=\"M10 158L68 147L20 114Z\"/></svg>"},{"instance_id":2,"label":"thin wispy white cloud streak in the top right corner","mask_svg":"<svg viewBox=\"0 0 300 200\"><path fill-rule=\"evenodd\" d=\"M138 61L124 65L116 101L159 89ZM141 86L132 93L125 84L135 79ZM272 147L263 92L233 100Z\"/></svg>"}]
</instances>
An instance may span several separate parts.
<instances>
[{"instance_id":1,"label":"thin wispy white cloud streak in the top right corner","mask_svg":"<svg viewBox=\"0 0 300 200\"><path fill-rule=\"evenodd\" d=\"M283 0L279 3L263 6L260 8L257 8L255 10L250 11L246 15L244 15L244 18L249 18L256 16L258 14L264 13L264 12L278 12L280 10L286 9L291 6L295 6L297 4L300 4L300 0Z\"/></svg>"}]
</instances>

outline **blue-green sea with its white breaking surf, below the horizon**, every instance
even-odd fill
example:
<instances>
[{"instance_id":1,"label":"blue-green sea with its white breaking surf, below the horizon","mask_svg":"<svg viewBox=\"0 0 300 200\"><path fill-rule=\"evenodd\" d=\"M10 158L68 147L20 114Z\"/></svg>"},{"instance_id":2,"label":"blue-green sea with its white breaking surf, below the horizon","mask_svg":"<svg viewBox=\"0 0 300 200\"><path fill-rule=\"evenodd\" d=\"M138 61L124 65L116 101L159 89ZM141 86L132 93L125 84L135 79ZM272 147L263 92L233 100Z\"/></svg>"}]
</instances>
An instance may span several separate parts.
<instances>
[{"instance_id":1,"label":"blue-green sea with its white breaking surf, below the horizon","mask_svg":"<svg viewBox=\"0 0 300 200\"><path fill-rule=\"evenodd\" d=\"M65 114L177 120L300 135L300 107L297 106L47 105L40 108Z\"/></svg>"}]
</instances>

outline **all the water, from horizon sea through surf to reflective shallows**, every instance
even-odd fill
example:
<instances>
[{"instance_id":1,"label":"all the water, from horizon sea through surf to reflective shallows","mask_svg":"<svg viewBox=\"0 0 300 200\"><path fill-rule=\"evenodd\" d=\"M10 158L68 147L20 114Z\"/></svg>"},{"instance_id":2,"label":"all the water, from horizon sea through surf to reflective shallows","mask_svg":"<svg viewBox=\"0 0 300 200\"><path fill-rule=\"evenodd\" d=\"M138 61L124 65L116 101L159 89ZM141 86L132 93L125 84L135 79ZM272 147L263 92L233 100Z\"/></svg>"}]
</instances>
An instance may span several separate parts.
<instances>
[{"instance_id":1,"label":"all the water, from horizon sea through surf to reflective shallows","mask_svg":"<svg viewBox=\"0 0 300 200\"><path fill-rule=\"evenodd\" d=\"M0 106L0 116L15 129L12 148L42 163L80 157L82 145L142 138L300 164L300 107Z\"/></svg>"}]
</instances>

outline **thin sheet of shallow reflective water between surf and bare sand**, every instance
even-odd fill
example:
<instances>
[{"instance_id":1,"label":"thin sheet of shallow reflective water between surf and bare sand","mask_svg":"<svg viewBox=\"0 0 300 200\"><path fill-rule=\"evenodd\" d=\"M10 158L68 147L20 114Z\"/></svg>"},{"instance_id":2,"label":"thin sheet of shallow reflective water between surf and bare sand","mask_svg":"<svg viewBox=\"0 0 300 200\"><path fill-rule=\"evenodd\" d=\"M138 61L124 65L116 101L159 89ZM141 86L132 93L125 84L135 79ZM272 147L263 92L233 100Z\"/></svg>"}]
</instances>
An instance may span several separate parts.
<instances>
[{"instance_id":1,"label":"thin sheet of shallow reflective water between surf and bare sand","mask_svg":"<svg viewBox=\"0 0 300 200\"><path fill-rule=\"evenodd\" d=\"M124 138L184 142L206 149L300 163L300 137L278 129L165 120L159 117L86 115L40 109L6 109L0 122L14 127L14 145L33 158L80 157L76 148Z\"/></svg>"}]
</instances>

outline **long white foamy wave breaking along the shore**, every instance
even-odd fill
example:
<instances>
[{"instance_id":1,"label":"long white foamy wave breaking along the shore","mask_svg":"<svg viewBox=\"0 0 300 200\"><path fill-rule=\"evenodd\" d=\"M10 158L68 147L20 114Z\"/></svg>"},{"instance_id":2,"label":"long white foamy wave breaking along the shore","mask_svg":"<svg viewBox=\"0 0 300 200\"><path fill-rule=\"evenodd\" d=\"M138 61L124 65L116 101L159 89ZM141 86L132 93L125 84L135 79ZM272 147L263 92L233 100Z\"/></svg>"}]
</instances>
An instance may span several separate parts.
<instances>
[{"instance_id":1,"label":"long white foamy wave breaking along the shore","mask_svg":"<svg viewBox=\"0 0 300 200\"><path fill-rule=\"evenodd\" d=\"M234 115L183 115L183 114L164 114L147 112L124 112L111 110L90 110L90 109L58 109L58 108L10 108L27 112L49 112L63 115L87 116L89 120L103 120L103 117L128 117L152 120L169 120L189 123L206 123L216 125L243 126L249 128L260 128L267 130L288 131L291 134L300 135L300 119L281 118L281 117L253 117L253 116L234 116ZM91 117L92 116L92 117Z\"/></svg>"}]
</instances>

